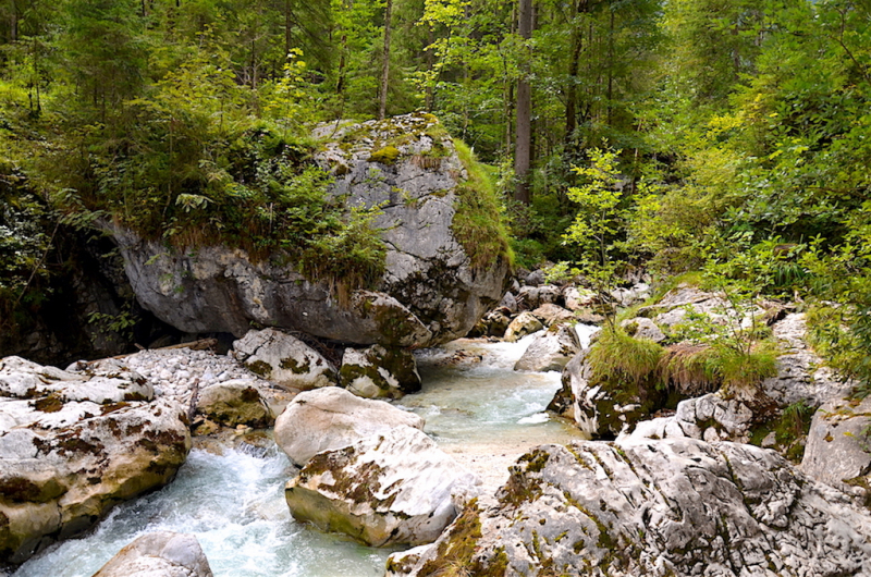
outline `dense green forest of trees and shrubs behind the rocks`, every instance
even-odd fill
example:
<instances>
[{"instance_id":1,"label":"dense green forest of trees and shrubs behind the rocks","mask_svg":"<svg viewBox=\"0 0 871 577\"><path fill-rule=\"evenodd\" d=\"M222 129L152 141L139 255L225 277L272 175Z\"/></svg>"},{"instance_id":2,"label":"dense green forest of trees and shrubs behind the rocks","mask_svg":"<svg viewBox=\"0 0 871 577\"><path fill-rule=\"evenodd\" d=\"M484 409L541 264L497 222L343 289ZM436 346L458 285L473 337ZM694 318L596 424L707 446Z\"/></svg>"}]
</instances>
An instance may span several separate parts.
<instances>
[{"instance_id":1,"label":"dense green forest of trees and shrubs behind the rocks","mask_svg":"<svg viewBox=\"0 0 871 577\"><path fill-rule=\"evenodd\" d=\"M311 128L421 111L516 268L795 300L871 392L869 98L867 0L3 0L0 324L107 218L365 284Z\"/></svg>"}]
</instances>

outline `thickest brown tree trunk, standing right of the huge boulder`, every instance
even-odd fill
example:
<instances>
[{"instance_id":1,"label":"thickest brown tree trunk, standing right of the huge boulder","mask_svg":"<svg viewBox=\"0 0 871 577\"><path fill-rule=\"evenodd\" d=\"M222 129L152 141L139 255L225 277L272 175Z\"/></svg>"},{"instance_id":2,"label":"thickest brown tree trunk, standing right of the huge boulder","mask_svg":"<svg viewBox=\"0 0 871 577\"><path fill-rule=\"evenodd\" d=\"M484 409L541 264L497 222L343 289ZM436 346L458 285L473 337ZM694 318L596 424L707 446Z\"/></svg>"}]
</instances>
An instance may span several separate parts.
<instances>
[{"instance_id":1,"label":"thickest brown tree trunk, standing right of the huge boulder","mask_svg":"<svg viewBox=\"0 0 871 577\"><path fill-rule=\"evenodd\" d=\"M532 0L519 0L517 11L517 29L520 37L532 37ZM532 87L529 85L529 60L520 66L520 79L517 82L517 128L514 144L514 174L517 185L514 199L528 205L529 168L532 160Z\"/></svg>"}]
</instances>

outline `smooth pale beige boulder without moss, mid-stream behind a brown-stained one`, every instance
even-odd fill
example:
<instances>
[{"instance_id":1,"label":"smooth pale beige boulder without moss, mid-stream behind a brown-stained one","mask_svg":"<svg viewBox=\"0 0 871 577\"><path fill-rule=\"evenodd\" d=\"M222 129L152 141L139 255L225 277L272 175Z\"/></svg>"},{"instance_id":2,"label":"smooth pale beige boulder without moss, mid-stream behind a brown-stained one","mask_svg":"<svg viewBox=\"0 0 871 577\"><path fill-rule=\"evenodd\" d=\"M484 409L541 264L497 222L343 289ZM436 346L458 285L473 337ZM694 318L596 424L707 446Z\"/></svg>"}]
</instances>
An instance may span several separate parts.
<instances>
[{"instance_id":1,"label":"smooth pale beige boulder without moss, mid-stream behind a brown-stained one","mask_svg":"<svg viewBox=\"0 0 871 577\"><path fill-rule=\"evenodd\" d=\"M403 425L422 429L424 419L384 401L326 386L294 397L275 419L275 443L302 466L322 451L342 449Z\"/></svg>"}]
</instances>

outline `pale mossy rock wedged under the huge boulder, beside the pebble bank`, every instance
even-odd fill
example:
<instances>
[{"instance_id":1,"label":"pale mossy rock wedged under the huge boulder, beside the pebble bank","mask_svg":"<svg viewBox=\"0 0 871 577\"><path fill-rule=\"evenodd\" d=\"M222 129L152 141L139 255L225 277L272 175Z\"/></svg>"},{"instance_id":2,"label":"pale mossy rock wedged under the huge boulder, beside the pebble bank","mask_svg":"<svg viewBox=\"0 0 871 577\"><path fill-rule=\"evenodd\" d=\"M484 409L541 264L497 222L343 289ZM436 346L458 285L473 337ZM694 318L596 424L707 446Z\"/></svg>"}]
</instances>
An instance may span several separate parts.
<instances>
[{"instance_id":1,"label":"pale mossy rock wedged under the huge boulder, beside the pebble bank","mask_svg":"<svg viewBox=\"0 0 871 577\"><path fill-rule=\"evenodd\" d=\"M233 343L236 360L282 386L316 389L339 382L330 361L299 339L275 329L248 331Z\"/></svg>"}]
</instances>

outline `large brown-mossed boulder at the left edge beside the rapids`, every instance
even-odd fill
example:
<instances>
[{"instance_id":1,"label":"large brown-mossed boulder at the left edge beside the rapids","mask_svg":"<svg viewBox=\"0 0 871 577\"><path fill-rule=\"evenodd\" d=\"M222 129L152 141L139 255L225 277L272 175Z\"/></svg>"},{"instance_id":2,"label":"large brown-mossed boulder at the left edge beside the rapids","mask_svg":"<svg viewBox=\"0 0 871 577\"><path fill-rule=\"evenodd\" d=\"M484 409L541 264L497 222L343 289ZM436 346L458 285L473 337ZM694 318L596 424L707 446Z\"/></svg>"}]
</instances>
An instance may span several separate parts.
<instances>
[{"instance_id":1,"label":"large brown-mossed boulder at the left edge beside the rapids","mask_svg":"<svg viewBox=\"0 0 871 577\"><path fill-rule=\"evenodd\" d=\"M191 435L177 403L114 377L0 360L0 557L21 563L170 482Z\"/></svg>"}]
</instances>

